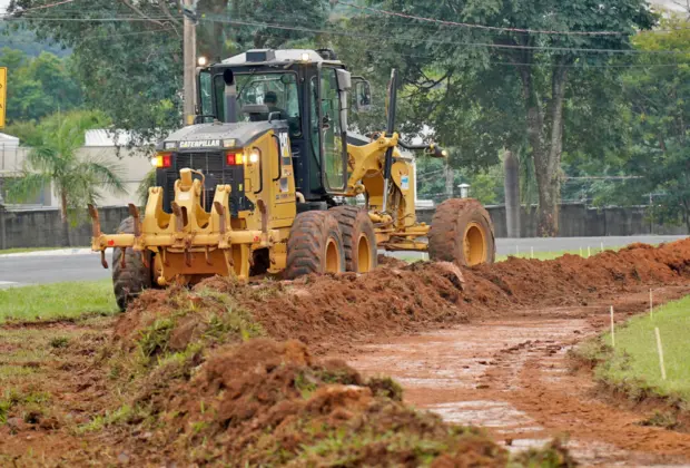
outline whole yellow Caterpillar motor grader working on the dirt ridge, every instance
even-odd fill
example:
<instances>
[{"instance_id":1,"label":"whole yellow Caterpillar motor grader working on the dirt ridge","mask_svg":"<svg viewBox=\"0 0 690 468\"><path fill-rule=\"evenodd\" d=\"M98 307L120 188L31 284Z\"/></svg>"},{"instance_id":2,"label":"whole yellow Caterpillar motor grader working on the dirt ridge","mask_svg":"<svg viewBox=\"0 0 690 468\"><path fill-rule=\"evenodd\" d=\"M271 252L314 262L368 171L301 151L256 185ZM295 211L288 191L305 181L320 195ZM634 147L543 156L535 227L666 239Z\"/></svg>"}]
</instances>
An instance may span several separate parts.
<instances>
[{"instance_id":1,"label":"whole yellow Caterpillar motor grader working on the dirt ridge","mask_svg":"<svg viewBox=\"0 0 690 468\"><path fill-rule=\"evenodd\" d=\"M416 220L410 152L446 154L395 131L395 70L386 130L368 137L347 131L347 116L368 107L369 85L332 50L249 50L199 68L197 88L194 124L157 146L144 214L130 204L119 234L107 235L89 206L105 267L114 248L121 310L147 287L213 275L366 273L379 250L494 261L479 202L448 199L431 226Z\"/></svg>"}]
</instances>

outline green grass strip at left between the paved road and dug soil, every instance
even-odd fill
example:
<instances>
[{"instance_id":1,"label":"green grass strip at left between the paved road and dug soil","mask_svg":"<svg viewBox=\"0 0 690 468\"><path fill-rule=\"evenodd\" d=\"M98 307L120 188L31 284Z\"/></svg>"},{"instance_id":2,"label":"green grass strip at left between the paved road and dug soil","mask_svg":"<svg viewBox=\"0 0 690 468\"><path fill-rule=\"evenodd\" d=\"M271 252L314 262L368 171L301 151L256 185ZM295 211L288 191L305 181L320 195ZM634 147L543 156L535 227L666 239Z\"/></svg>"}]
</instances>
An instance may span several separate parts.
<instances>
[{"instance_id":1,"label":"green grass strip at left between the paved road and dug soil","mask_svg":"<svg viewBox=\"0 0 690 468\"><path fill-rule=\"evenodd\" d=\"M0 290L0 323L73 319L117 312L110 280L41 284Z\"/></svg>"}]
</instances>

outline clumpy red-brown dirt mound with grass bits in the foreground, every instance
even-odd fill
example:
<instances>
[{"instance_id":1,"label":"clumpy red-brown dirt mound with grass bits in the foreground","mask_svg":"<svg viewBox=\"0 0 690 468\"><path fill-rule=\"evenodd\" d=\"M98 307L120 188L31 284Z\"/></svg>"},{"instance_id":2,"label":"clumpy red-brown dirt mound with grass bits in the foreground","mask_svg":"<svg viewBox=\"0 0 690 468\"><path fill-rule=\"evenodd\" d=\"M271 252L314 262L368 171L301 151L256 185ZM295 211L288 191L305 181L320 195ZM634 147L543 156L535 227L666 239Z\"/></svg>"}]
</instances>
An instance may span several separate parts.
<instances>
[{"instance_id":1,"label":"clumpy red-brown dirt mound with grass bits in the foreground","mask_svg":"<svg viewBox=\"0 0 690 468\"><path fill-rule=\"evenodd\" d=\"M388 379L364 381L343 362L316 362L299 342L253 340L219 349L160 398L149 415L160 428L129 456L149 464L412 467L463 454L481 466L505 466L505 451L480 431L400 400Z\"/></svg>"}]
</instances>

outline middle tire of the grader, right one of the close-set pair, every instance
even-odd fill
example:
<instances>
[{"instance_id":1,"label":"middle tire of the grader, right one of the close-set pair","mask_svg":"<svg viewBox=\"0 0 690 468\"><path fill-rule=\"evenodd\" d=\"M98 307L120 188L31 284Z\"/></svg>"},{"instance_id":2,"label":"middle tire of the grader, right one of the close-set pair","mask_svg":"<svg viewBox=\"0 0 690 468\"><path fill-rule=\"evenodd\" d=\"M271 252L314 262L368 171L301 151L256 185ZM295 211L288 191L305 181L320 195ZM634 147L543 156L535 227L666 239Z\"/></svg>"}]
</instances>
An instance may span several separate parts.
<instances>
[{"instance_id":1,"label":"middle tire of the grader, right one of the close-set pair","mask_svg":"<svg viewBox=\"0 0 690 468\"><path fill-rule=\"evenodd\" d=\"M336 206L329 209L343 233L345 269L368 273L378 265L376 233L366 209L358 206Z\"/></svg>"}]
</instances>

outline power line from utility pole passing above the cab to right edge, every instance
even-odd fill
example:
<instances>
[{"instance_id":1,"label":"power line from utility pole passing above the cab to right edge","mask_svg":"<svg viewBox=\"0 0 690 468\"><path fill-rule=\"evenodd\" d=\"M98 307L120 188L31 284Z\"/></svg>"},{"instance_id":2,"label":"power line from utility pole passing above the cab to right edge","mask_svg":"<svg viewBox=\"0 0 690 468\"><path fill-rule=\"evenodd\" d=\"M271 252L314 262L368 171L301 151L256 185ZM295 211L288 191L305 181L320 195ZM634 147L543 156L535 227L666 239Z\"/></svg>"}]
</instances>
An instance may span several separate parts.
<instances>
[{"instance_id":1,"label":"power line from utility pole passing above the cab to right edge","mask_svg":"<svg viewBox=\"0 0 690 468\"><path fill-rule=\"evenodd\" d=\"M687 52L678 51L678 50L635 50L635 49L589 49L589 48L579 48L579 47L542 47L542 46L516 46L516 45L501 45L501 43L487 43L487 42L460 42L460 41L444 41L437 39L420 39L420 38L411 38L411 37L390 37L390 36L375 36L367 33L349 33L345 31L337 30L328 30L328 29L312 29L302 26L287 26L279 23L269 23L269 22L256 22L256 21L241 21L241 20L229 20L225 18L218 18L216 16L207 16L206 18L201 18L201 21L207 22L220 22L226 25L235 25L235 26L252 26L258 28L269 28L269 29L283 29L289 31L302 31L302 32L314 32L321 35L335 35L335 36L344 36L359 39L375 39L375 40L391 40L394 42L432 42L440 45L448 45L448 46L467 46L467 47L486 47L493 49L520 49L520 50L544 50L544 51L554 51L554 52L588 52L588 53L650 53L650 55L687 55Z\"/></svg>"}]
</instances>

